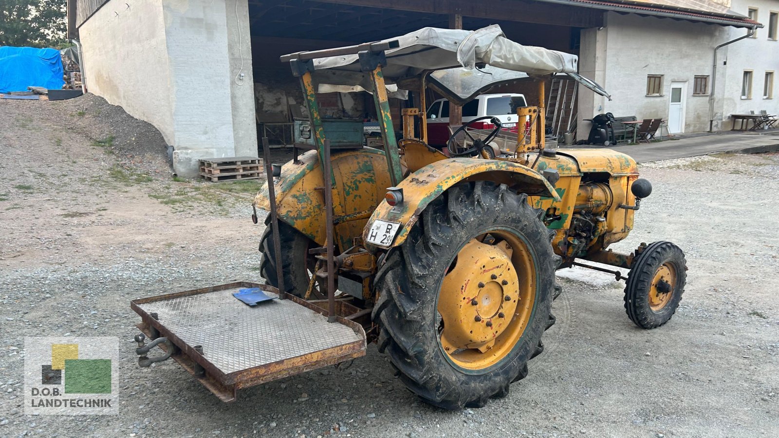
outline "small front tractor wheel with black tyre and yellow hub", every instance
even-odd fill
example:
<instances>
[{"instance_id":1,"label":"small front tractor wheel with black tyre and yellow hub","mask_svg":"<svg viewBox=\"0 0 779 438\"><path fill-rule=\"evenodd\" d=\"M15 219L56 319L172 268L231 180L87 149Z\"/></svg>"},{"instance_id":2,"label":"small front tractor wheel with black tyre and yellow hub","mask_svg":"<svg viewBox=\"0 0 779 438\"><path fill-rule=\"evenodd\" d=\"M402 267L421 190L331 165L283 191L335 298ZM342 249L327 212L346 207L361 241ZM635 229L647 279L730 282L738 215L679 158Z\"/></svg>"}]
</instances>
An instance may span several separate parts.
<instances>
[{"instance_id":1,"label":"small front tractor wheel with black tyre and yellow hub","mask_svg":"<svg viewBox=\"0 0 779 438\"><path fill-rule=\"evenodd\" d=\"M625 286L625 311L636 326L654 329L679 307L687 281L687 262L679 246L654 242L633 261Z\"/></svg>"}]
</instances>

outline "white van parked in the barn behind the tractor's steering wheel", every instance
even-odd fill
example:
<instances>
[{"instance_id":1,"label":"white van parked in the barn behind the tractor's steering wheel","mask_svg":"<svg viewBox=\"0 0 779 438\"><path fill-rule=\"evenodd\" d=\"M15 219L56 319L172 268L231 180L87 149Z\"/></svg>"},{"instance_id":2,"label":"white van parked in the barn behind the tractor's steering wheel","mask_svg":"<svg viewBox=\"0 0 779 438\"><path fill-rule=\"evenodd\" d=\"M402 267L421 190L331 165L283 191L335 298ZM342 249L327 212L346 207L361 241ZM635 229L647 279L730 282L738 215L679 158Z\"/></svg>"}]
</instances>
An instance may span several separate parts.
<instances>
[{"instance_id":1,"label":"white van parked in the barn behind the tractor's steering wheel","mask_svg":"<svg viewBox=\"0 0 779 438\"><path fill-rule=\"evenodd\" d=\"M518 106L527 106L527 101L523 94L481 94L473 101L463 105L463 123L471 122L474 118L485 117L486 115L495 116L500 120L504 128L512 129L516 127L516 112L511 111L511 98L521 97L521 104ZM449 101L439 99L430 105L427 112L428 118L428 144L431 146L444 146L449 140ZM479 122L471 125L474 129L492 129L494 126L489 123ZM457 126L456 128L459 128Z\"/></svg>"}]
</instances>

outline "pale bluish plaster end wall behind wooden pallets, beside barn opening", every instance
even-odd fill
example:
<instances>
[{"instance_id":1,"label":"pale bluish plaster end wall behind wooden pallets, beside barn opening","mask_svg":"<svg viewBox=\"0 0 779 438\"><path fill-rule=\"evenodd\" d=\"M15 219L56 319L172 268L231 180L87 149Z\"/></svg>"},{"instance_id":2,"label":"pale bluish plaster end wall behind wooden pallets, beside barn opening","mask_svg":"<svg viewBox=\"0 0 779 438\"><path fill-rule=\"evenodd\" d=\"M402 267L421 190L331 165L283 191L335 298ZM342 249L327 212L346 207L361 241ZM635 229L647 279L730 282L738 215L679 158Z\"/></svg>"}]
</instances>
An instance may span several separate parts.
<instances>
[{"instance_id":1,"label":"pale bluish plaster end wall behind wooden pallets, beside barn opening","mask_svg":"<svg viewBox=\"0 0 779 438\"><path fill-rule=\"evenodd\" d=\"M228 4L233 7L228 8ZM241 103L234 103L233 95L249 93L253 111L252 81L246 79L244 85L236 85L234 75L238 72L231 69L227 22L229 19L234 23L234 2L163 0L163 12L171 88L176 96L174 170L194 176L199 158L234 157L241 155L236 154L237 150L244 151L244 145L237 145L234 130L234 106ZM239 17L241 12L248 23L245 8L238 11ZM251 70L250 54L246 56L245 64ZM255 129L253 116L249 122Z\"/></svg>"}]
</instances>

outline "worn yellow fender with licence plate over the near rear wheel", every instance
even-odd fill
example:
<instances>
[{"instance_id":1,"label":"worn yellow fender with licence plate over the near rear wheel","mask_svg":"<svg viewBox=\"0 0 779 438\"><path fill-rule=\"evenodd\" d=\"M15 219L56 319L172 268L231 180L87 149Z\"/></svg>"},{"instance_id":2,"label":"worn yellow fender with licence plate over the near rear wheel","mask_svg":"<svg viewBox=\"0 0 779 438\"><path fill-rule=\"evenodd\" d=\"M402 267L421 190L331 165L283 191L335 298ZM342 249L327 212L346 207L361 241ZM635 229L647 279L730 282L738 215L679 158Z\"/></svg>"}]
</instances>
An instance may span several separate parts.
<instances>
[{"instance_id":1,"label":"worn yellow fender with licence plate over the near rear wheel","mask_svg":"<svg viewBox=\"0 0 779 438\"><path fill-rule=\"evenodd\" d=\"M397 185L399 189L403 189L403 202L395 207L386 203L386 200L379 203L379 207L376 207L363 230L363 242L369 248L382 249L390 249L402 244L417 222L419 214L432 200L457 182L480 180L506 184L519 193L546 196L558 202L560 200L554 187L541 174L522 164L481 158L450 158L435 161L408 175ZM379 219L400 223L400 230L397 231L393 242L386 246L368 244L367 241L371 224Z\"/></svg>"}]
</instances>

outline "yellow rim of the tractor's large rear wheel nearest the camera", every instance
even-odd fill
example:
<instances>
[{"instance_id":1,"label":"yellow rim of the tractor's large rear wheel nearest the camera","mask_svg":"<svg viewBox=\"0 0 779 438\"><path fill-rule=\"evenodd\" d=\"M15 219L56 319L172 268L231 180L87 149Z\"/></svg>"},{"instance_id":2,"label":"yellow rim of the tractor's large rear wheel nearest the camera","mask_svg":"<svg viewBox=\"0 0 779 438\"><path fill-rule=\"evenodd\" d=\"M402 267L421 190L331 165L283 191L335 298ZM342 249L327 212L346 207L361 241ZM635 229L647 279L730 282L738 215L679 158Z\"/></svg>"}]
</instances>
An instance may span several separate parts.
<instances>
[{"instance_id":1,"label":"yellow rim of the tractor's large rear wheel nearest the camera","mask_svg":"<svg viewBox=\"0 0 779 438\"><path fill-rule=\"evenodd\" d=\"M464 369L486 369L506 358L533 313L536 276L527 245L503 231L489 236L460 249L439 291L441 346Z\"/></svg>"}]
</instances>

